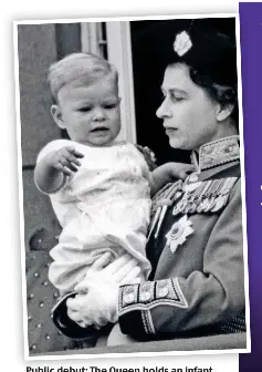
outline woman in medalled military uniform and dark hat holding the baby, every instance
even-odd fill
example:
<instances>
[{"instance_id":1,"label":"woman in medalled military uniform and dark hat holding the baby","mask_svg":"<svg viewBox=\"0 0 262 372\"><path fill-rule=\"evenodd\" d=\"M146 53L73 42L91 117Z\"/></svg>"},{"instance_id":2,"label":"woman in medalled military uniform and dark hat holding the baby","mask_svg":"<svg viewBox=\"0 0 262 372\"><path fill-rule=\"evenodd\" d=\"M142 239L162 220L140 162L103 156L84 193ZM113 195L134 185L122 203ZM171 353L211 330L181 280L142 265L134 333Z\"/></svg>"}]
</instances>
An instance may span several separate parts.
<instances>
[{"instance_id":1,"label":"woman in medalled military uniform and dark hat holding the baby","mask_svg":"<svg viewBox=\"0 0 262 372\"><path fill-rule=\"evenodd\" d=\"M67 299L67 314L82 322L74 335L95 312L97 324L117 319L139 340L245 331L235 46L197 22L171 38L159 46L166 66L157 116L170 146L192 152L195 172L154 198L149 280L118 288L108 267L95 268L96 278L108 275L108 288ZM117 310L107 291L118 297ZM72 334L63 316L62 331Z\"/></svg>"}]
</instances>

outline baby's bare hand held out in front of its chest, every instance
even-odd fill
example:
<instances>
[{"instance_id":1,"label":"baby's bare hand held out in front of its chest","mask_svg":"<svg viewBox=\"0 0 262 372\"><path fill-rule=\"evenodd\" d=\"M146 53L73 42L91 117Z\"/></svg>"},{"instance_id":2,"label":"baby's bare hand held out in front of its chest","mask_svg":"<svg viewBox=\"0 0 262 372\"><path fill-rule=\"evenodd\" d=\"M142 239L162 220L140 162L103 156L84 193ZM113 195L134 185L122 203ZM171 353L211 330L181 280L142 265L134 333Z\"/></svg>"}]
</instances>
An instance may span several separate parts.
<instances>
[{"instance_id":1,"label":"baby's bare hand held out in front of its chest","mask_svg":"<svg viewBox=\"0 0 262 372\"><path fill-rule=\"evenodd\" d=\"M71 176L72 172L77 172L81 162L78 158L84 157L83 154L77 152L73 146L64 146L54 153L50 154L50 165L62 172L66 176Z\"/></svg>"}]
</instances>

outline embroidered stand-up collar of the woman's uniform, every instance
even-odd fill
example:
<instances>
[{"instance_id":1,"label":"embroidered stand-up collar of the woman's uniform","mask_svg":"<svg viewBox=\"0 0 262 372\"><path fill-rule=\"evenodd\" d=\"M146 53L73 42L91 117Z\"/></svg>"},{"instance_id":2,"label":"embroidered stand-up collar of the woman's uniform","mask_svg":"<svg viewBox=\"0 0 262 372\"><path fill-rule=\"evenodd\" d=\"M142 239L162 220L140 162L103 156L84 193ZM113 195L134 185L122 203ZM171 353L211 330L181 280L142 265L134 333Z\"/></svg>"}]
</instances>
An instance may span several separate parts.
<instances>
[{"instance_id":1,"label":"embroidered stand-up collar of the woman's uniform","mask_svg":"<svg viewBox=\"0 0 262 372\"><path fill-rule=\"evenodd\" d=\"M198 173L240 158L239 136L233 135L209 142L192 152L191 161Z\"/></svg>"}]
</instances>

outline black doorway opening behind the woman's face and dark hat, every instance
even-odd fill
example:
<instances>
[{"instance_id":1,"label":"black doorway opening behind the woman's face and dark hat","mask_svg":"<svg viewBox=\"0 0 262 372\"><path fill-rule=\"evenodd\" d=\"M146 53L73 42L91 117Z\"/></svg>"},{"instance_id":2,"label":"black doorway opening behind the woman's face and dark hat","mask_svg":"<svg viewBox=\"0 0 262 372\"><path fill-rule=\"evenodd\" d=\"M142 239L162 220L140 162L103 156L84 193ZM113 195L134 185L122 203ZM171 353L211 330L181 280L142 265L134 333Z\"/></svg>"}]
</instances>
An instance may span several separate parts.
<instances>
[{"instance_id":1,"label":"black doorway opening behind the woman's face and dark hat","mask_svg":"<svg viewBox=\"0 0 262 372\"><path fill-rule=\"evenodd\" d=\"M202 29L216 29L235 42L234 18L196 19L192 24L190 19L130 22L137 142L155 152L158 164L171 159L189 162L187 152L170 148L161 120L156 116L161 102L160 85L165 71L165 61L159 53L161 43L166 35L166 42L171 44L176 31L187 30L190 25L199 27L200 22Z\"/></svg>"}]
</instances>

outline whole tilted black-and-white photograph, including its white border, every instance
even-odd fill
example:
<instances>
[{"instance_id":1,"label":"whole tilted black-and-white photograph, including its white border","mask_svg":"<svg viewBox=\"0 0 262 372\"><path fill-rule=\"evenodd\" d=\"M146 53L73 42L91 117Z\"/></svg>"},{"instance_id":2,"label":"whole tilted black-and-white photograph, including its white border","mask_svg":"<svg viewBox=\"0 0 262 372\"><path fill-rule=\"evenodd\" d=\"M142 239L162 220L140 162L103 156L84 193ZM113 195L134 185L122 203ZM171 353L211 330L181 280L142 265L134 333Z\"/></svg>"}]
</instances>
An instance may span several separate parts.
<instances>
[{"instance_id":1,"label":"whole tilted black-and-white photograph, including its white border","mask_svg":"<svg viewBox=\"0 0 262 372\"><path fill-rule=\"evenodd\" d=\"M15 22L27 356L249 349L238 22Z\"/></svg>"}]
</instances>

